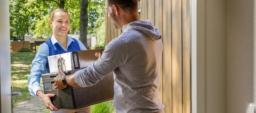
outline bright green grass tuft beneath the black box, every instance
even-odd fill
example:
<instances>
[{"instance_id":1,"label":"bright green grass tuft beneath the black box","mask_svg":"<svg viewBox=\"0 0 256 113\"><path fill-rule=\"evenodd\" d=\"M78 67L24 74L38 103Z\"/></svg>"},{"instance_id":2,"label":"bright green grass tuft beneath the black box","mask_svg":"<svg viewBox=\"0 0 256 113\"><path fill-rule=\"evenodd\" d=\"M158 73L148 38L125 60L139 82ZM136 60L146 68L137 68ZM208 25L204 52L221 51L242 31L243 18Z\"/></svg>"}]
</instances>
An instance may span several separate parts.
<instances>
[{"instance_id":1,"label":"bright green grass tuft beneath the black box","mask_svg":"<svg viewBox=\"0 0 256 113\"><path fill-rule=\"evenodd\" d=\"M115 113L115 106L112 100L91 105L91 113Z\"/></svg>"}]
</instances>

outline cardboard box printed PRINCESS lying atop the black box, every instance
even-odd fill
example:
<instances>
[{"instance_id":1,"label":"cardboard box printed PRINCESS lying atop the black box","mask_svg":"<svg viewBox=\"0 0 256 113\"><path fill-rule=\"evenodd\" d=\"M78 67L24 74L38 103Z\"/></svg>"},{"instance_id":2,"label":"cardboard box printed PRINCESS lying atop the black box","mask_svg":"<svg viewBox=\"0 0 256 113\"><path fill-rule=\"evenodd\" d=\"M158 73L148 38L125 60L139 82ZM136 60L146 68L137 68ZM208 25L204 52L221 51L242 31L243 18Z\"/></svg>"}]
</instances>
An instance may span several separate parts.
<instances>
[{"instance_id":1,"label":"cardboard box printed PRINCESS lying atop the black box","mask_svg":"<svg viewBox=\"0 0 256 113\"><path fill-rule=\"evenodd\" d=\"M62 71L67 71L88 67L88 65L98 59L98 56L102 55L103 51L104 48L48 56L50 73L58 72L59 68L61 68Z\"/></svg>"}]
</instances>

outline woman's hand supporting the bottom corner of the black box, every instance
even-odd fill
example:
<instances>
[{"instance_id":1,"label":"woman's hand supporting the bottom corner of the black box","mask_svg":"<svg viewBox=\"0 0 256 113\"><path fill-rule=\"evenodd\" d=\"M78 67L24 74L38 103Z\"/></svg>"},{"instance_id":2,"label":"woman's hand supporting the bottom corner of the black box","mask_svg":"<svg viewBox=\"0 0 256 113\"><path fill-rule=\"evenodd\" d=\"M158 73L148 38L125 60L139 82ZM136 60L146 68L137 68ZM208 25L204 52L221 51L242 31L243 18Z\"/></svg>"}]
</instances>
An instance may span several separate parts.
<instances>
[{"instance_id":1,"label":"woman's hand supporting the bottom corner of the black box","mask_svg":"<svg viewBox=\"0 0 256 113\"><path fill-rule=\"evenodd\" d=\"M51 101L51 97L54 97L55 94L44 94L42 90L37 91L37 94L43 100L46 107L49 108L51 111L61 110L61 109L56 108Z\"/></svg>"}]
</instances>

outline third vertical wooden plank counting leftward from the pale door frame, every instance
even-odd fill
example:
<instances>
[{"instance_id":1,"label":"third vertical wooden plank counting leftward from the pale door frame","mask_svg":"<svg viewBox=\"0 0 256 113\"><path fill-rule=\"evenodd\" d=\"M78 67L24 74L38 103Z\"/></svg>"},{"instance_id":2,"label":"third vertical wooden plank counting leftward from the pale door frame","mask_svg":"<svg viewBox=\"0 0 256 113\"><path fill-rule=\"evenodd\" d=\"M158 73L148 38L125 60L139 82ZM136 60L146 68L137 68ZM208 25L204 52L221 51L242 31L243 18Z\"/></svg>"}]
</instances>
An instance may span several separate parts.
<instances>
[{"instance_id":1,"label":"third vertical wooden plank counting leftward from the pale door frame","mask_svg":"<svg viewBox=\"0 0 256 113\"><path fill-rule=\"evenodd\" d=\"M163 0L163 102L165 112L172 113L172 6L171 0ZM161 28L159 28L161 29ZM175 103L174 103L175 104Z\"/></svg>"}]
</instances>

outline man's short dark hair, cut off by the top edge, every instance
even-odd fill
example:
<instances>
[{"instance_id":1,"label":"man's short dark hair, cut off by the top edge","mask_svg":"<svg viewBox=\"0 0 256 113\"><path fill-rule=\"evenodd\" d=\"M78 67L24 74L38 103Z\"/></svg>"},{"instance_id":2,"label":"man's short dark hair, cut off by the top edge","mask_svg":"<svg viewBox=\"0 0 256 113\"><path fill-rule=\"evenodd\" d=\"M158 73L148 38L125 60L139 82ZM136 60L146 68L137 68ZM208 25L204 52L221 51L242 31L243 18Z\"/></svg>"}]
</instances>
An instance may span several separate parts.
<instances>
[{"instance_id":1,"label":"man's short dark hair, cut off by the top edge","mask_svg":"<svg viewBox=\"0 0 256 113\"><path fill-rule=\"evenodd\" d=\"M138 0L106 0L108 6L117 5L124 10L138 10Z\"/></svg>"}]
</instances>

